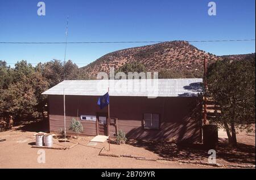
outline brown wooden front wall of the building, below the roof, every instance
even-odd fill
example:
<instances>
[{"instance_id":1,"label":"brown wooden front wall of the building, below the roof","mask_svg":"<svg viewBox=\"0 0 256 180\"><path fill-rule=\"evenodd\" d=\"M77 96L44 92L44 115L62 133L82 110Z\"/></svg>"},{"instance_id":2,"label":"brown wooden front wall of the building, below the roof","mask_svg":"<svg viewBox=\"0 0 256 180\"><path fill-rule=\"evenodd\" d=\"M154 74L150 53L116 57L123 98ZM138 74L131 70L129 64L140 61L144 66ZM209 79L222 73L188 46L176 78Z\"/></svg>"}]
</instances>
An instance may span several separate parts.
<instances>
[{"instance_id":1,"label":"brown wooden front wall of the building, below the roof","mask_svg":"<svg viewBox=\"0 0 256 180\"><path fill-rule=\"evenodd\" d=\"M96 115L96 112L108 112L108 108L100 110L97 106L98 97L66 95L66 127L72 118L80 115ZM110 116L118 118L118 129L125 131L130 139L151 141L189 141L201 140L200 99L197 97L110 97ZM160 114L160 129L146 130L142 128L143 114ZM64 129L63 96L49 95L50 131ZM82 135L95 136L96 123L81 121L84 132ZM71 133L70 131L67 131ZM110 127L110 135L115 132Z\"/></svg>"}]
</instances>

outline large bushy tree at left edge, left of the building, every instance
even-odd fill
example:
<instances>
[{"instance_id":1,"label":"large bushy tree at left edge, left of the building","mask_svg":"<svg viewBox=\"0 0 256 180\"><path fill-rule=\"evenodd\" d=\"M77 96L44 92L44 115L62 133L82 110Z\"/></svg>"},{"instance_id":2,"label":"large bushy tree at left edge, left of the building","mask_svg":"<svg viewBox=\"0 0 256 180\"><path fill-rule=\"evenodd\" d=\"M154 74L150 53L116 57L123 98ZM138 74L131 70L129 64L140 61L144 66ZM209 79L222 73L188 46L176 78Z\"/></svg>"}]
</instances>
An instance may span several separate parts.
<instances>
[{"instance_id":1,"label":"large bushy tree at left edge, left of the building","mask_svg":"<svg viewBox=\"0 0 256 180\"><path fill-rule=\"evenodd\" d=\"M14 68L3 63L0 69L5 73L0 89L0 116L19 119L26 116L37 118L39 112L43 115L46 97L41 93L49 85L39 70L24 60L17 62Z\"/></svg>"}]
</instances>

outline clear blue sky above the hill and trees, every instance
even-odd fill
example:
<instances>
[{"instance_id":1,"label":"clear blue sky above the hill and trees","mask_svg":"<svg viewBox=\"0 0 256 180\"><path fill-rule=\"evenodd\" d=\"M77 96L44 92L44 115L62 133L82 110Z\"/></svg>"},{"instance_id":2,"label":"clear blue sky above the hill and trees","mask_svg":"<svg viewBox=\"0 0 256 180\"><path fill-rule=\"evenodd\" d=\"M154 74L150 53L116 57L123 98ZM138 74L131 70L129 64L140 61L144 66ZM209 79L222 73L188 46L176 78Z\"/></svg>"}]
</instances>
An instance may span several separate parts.
<instances>
[{"instance_id":1,"label":"clear blue sky above the hill and trees","mask_svg":"<svg viewBox=\"0 0 256 180\"><path fill-rule=\"evenodd\" d=\"M43 0L40 0L43 1ZM214 1L214 0L211 0ZM222 0L217 15L208 15L205 0L0 0L0 41L170 41L255 39L255 0ZM229 55L255 52L255 41L192 43ZM106 53L143 44L68 44L67 59L84 66ZM0 44L0 60L32 64L64 59L64 44Z\"/></svg>"}]
</instances>

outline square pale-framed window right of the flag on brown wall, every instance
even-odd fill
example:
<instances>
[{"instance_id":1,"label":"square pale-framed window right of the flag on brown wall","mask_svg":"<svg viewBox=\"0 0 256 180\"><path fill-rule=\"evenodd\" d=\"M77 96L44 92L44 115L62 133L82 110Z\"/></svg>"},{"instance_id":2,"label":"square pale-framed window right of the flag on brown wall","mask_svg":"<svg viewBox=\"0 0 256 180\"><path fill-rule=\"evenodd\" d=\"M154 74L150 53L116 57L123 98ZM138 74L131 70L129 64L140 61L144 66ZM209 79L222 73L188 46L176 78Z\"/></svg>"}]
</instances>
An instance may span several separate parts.
<instances>
[{"instance_id":1,"label":"square pale-framed window right of the flag on brown wall","mask_svg":"<svg viewBox=\"0 0 256 180\"><path fill-rule=\"evenodd\" d=\"M144 114L144 129L159 129L159 114Z\"/></svg>"}]
</instances>

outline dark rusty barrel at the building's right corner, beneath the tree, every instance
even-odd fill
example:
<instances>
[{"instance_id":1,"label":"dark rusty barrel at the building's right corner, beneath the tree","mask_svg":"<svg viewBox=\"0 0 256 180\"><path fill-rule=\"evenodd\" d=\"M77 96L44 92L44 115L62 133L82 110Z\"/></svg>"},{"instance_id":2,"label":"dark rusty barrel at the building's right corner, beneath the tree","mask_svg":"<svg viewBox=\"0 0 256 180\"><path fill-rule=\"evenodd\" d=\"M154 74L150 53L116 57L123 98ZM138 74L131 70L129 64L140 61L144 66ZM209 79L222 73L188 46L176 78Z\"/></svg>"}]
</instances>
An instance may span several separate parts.
<instances>
[{"instance_id":1,"label":"dark rusty barrel at the building's right corner, beneath the tree","mask_svg":"<svg viewBox=\"0 0 256 180\"><path fill-rule=\"evenodd\" d=\"M207 149L216 149L218 146L217 125L207 124L203 126L203 143Z\"/></svg>"}]
</instances>

